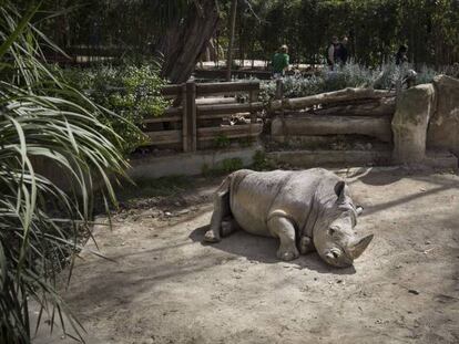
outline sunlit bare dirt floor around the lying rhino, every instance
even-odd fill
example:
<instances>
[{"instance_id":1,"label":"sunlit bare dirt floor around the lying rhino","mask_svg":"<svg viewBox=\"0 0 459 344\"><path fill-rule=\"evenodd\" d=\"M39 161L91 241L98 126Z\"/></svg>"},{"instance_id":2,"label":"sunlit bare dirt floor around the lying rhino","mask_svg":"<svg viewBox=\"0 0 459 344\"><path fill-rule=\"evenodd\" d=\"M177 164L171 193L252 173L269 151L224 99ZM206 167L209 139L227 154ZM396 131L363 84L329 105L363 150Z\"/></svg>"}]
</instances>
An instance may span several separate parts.
<instances>
[{"instance_id":1,"label":"sunlit bare dirt floor around the lying rhino","mask_svg":"<svg viewBox=\"0 0 459 344\"><path fill-rule=\"evenodd\" d=\"M375 233L344 270L278 261L276 240L244 232L202 244L218 179L118 213L95 231L114 262L82 254L65 293L86 342L459 343L459 177L341 175L365 208L358 231ZM74 343L45 327L34 343Z\"/></svg>"}]
</instances>

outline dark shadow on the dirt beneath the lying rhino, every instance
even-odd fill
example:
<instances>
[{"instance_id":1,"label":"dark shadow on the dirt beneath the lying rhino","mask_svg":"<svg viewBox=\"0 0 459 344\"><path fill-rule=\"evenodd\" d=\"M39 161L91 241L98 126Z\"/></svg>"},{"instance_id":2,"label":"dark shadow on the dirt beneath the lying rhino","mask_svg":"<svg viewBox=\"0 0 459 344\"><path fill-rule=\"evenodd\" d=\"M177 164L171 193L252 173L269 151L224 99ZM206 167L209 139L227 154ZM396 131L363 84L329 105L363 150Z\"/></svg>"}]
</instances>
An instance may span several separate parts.
<instances>
[{"instance_id":1,"label":"dark shadow on the dirt beneath the lying rhino","mask_svg":"<svg viewBox=\"0 0 459 344\"><path fill-rule=\"evenodd\" d=\"M324 262L317 253L309 253L306 256L299 256L299 258L284 262L276 257L278 248L278 240L275 238L258 237L247 233L243 230L238 230L230 237L223 238L221 242L207 243L203 242L205 232L208 229L207 226L198 227L194 229L188 238L194 242L201 242L202 246L211 246L216 250L245 257L249 261L257 261L261 263L285 263L292 264L293 268L314 270L319 273L334 273L334 274L354 274L356 270L354 267L340 269L328 265Z\"/></svg>"}]
</instances>

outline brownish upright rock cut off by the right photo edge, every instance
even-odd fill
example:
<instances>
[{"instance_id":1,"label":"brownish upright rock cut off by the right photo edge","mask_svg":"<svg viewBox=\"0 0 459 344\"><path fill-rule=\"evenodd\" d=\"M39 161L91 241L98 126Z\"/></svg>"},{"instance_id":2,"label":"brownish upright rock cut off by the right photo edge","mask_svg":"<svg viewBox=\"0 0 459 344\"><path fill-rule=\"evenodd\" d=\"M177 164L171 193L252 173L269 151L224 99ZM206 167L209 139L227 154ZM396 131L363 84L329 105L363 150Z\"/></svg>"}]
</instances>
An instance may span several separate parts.
<instances>
[{"instance_id":1,"label":"brownish upright rock cut off by the right photo edge","mask_svg":"<svg viewBox=\"0 0 459 344\"><path fill-rule=\"evenodd\" d=\"M446 148L459 157L459 80L439 75L434 80L437 111L427 132L429 148Z\"/></svg>"}]
</instances>

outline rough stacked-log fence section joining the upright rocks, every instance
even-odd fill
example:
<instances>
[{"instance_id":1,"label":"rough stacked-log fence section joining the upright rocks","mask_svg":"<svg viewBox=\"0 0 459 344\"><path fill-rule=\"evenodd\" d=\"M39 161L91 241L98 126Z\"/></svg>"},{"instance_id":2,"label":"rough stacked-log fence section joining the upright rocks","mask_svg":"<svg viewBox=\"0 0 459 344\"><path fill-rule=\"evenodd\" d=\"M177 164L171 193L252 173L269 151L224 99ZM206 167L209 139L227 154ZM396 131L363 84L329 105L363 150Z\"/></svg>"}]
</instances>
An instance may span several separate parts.
<instances>
[{"instance_id":1,"label":"rough stacked-log fence section joining the upright rocks","mask_svg":"<svg viewBox=\"0 0 459 344\"><path fill-rule=\"evenodd\" d=\"M282 83L269 104L275 114L274 140L325 142L337 135L363 135L391 143L396 93L373 88L345 88L305 97L284 98Z\"/></svg>"}]
</instances>

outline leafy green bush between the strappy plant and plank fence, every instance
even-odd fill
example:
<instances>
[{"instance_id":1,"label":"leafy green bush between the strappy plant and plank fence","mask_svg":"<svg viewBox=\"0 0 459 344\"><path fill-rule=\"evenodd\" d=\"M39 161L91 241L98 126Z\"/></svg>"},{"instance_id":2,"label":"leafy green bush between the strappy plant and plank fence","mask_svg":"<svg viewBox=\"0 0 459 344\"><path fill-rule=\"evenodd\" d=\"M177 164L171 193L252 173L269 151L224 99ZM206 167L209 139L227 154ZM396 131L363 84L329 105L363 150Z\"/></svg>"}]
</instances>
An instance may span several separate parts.
<instances>
[{"instance_id":1,"label":"leafy green bush between the strappy plant and plank fence","mask_svg":"<svg viewBox=\"0 0 459 344\"><path fill-rule=\"evenodd\" d=\"M64 71L63 77L91 101L113 112L112 116L102 119L124 139L125 154L146 140L131 124L141 128L145 117L160 116L169 105L161 96L161 87L165 82L159 76L154 62L69 69Z\"/></svg>"}]
</instances>

